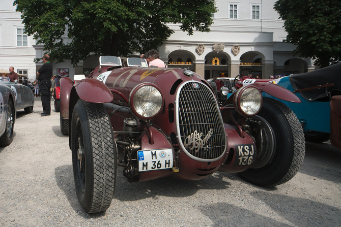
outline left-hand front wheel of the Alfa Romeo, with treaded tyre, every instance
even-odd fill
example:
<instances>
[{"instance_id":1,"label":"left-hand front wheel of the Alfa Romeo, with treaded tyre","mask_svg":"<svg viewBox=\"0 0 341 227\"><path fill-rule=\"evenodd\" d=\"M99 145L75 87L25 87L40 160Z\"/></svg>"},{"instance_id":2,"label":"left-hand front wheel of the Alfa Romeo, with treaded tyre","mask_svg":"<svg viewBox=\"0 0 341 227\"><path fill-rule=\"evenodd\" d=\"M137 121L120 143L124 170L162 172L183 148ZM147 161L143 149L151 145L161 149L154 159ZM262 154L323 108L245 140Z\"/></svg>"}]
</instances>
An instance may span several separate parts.
<instances>
[{"instance_id":1,"label":"left-hand front wheel of the Alfa Romeo, with treaded tyre","mask_svg":"<svg viewBox=\"0 0 341 227\"><path fill-rule=\"evenodd\" d=\"M117 149L101 104L78 100L71 119L71 150L81 206L88 213L108 209L115 191Z\"/></svg>"}]
</instances>

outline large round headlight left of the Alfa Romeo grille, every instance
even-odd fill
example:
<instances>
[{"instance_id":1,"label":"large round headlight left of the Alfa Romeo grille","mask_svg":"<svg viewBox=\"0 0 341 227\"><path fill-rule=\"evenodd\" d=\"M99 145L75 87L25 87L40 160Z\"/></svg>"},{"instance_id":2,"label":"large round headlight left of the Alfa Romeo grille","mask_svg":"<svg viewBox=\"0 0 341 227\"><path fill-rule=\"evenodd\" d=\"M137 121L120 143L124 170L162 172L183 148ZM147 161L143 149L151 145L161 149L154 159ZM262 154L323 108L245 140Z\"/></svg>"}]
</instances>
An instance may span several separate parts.
<instances>
[{"instance_id":1,"label":"large round headlight left of the Alfa Romeo grille","mask_svg":"<svg viewBox=\"0 0 341 227\"><path fill-rule=\"evenodd\" d=\"M163 98L159 89L152 85L138 86L132 92L130 103L133 112L138 117L148 119L160 112Z\"/></svg>"}]
</instances>

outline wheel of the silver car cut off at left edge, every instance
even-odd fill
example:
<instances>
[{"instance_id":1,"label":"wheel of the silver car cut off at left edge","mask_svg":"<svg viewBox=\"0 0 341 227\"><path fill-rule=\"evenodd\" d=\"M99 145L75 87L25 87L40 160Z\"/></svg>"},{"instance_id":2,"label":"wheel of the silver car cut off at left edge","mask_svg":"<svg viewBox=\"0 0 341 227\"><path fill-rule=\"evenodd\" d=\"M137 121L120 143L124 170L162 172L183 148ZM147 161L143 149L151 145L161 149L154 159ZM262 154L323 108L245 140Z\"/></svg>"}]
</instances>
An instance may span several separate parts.
<instances>
[{"instance_id":1,"label":"wheel of the silver car cut off at left edge","mask_svg":"<svg viewBox=\"0 0 341 227\"><path fill-rule=\"evenodd\" d=\"M7 146L13 141L13 130L14 130L14 105L12 100L8 101L7 112L6 112L6 131L0 138L0 146Z\"/></svg>"}]
</instances>

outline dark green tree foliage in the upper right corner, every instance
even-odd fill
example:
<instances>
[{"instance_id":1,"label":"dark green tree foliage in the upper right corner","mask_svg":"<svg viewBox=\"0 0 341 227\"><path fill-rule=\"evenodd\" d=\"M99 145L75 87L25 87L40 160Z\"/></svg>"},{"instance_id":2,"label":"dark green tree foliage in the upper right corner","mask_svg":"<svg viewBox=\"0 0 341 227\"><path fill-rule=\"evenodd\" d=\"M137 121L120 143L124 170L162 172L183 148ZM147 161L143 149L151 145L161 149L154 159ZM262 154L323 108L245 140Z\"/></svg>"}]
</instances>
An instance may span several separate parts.
<instances>
[{"instance_id":1,"label":"dark green tree foliage in the upper right corner","mask_svg":"<svg viewBox=\"0 0 341 227\"><path fill-rule=\"evenodd\" d=\"M285 20L287 42L296 53L326 67L341 60L340 0L278 0L274 9Z\"/></svg>"}]
</instances>

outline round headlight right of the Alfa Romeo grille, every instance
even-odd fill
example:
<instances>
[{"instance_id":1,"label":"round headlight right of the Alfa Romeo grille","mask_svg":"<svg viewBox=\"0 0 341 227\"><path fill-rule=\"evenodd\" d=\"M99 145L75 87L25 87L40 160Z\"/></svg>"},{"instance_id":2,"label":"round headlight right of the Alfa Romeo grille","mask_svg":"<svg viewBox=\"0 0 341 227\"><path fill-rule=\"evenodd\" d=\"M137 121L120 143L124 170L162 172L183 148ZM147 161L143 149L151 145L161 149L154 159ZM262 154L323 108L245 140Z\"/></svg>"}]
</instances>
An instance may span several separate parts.
<instances>
[{"instance_id":1,"label":"round headlight right of the Alfa Romeo grille","mask_svg":"<svg viewBox=\"0 0 341 227\"><path fill-rule=\"evenodd\" d=\"M234 105L237 112L246 117L257 114L263 103L261 91L254 86L244 86L237 90Z\"/></svg>"}]
</instances>

